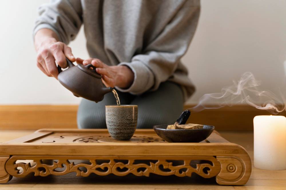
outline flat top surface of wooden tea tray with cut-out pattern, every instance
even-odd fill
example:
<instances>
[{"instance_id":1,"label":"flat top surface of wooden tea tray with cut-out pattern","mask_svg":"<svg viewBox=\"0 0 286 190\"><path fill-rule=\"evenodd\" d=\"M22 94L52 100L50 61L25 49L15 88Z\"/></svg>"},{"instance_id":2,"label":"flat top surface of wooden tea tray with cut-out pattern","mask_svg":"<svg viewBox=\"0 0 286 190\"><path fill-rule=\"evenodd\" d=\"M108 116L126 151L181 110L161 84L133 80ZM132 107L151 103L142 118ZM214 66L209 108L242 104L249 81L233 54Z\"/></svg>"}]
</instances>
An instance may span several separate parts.
<instances>
[{"instance_id":1,"label":"flat top surface of wooden tea tray with cut-out pattern","mask_svg":"<svg viewBox=\"0 0 286 190\"><path fill-rule=\"evenodd\" d=\"M217 136L217 132L214 132L214 138ZM223 139L221 136L220 142ZM219 141L219 139L217 139ZM21 137L15 140L11 140L6 142L7 144L14 144L14 143L49 143L49 144L58 144L58 143L168 143L162 138L160 138L153 130L151 129L139 129L136 130L134 136L127 141L119 141L114 140L106 129L89 129L89 130L61 130L61 129L40 129L37 130L35 133ZM204 140L200 143L209 142L208 140Z\"/></svg>"}]
</instances>

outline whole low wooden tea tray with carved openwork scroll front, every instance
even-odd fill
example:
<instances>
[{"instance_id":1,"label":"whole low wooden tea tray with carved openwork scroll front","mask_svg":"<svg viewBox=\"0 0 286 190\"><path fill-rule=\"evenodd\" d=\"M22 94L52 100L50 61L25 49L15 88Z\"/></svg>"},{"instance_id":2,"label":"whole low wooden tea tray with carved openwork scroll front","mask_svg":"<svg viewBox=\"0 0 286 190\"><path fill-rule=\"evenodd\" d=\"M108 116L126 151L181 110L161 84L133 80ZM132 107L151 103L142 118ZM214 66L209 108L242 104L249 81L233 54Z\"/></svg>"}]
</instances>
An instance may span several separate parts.
<instances>
[{"instance_id":1,"label":"whole low wooden tea tray with carved openwork scroll front","mask_svg":"<svg viewBox=\"0 0 286 190\"><path fill-rule=\"evenodd\" d=\"M137 129L127 142L112 140L106 129L41 129L0 144L0 183L30 173L47 176L70 172L84 177L91 173L180 177L196 173L216 177L220 185L244 185L251 173L251 160L243 147L216 131L200 143L168 143L152 129Z\"/></svg>"}]
</instances>

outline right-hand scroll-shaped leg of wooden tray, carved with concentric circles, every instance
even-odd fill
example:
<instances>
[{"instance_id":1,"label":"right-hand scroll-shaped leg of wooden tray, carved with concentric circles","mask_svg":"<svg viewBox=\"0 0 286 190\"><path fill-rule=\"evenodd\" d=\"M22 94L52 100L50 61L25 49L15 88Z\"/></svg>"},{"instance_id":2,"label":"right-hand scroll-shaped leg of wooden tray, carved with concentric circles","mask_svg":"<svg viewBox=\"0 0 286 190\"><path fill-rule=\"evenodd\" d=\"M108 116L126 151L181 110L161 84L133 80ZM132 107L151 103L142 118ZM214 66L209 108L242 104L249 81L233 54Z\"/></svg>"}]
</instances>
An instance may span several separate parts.
<instances>
[{"instance_id":1,"label":"right-hand scroll-shaped leg of wooden tray, carved with concentric circles","mask_svg":"<svg viewBox=\"0 0 286 190\"><path fill-rule=\"evenodd\" d=\"M251 174L251 160L248 155L217 156L221 171L216 176L219 185L245 185Z\"/></svg>"}]
</instances>

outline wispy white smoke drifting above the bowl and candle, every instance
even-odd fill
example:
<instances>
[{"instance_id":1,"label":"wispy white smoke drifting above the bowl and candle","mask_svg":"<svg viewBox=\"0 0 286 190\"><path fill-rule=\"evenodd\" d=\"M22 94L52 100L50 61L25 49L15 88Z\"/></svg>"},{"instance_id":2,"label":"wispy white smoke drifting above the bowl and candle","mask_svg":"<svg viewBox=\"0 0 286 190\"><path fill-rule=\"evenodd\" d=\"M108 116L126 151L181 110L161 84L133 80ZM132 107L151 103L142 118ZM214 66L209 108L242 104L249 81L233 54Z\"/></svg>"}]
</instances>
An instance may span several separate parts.
<instances>
[{"instance_id":1,"label":"wispy white smoke drifting above the bowl and candle","mask_svg":"<svg viewBox=\"0 0 286 190\"><path fill-rule=\"evenodd\" d=\"M239 81L233 81L233 85L223 87L221 93L203 95L198 105L190 110L199 112L204 109L218 109L245 103L257 109L267 110L272 114L285 110L286 101L280 90L274 94L271 91L262 91L259 86L260 82L254 78L253 74L246 72Z\"/></svg>"}]
</instances>

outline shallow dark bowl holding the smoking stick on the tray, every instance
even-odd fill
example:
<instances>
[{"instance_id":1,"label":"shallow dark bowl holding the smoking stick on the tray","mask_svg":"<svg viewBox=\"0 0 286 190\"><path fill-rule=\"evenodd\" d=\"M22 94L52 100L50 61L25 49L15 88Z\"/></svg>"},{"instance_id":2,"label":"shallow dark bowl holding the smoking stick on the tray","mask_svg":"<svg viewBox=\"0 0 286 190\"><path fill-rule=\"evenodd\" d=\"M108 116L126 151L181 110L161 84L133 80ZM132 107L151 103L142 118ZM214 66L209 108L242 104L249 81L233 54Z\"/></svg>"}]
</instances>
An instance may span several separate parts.
<instances>
[{"instance_id":1,"label":"shallow dark bowl holding the smoking stick on the tray","mask_svg":"<svg viewBox=\"0 0 286 190\"><path fill-rule=\"evenodd\" d=\"M166 129L168 125L155 125L154 131L167 142L201 142L208 138L214 126L204 125L201 129Z\"/></svg>"}]
</instances>

